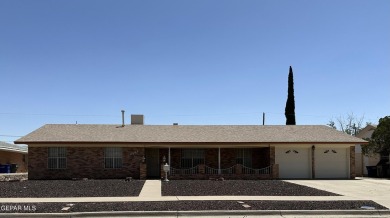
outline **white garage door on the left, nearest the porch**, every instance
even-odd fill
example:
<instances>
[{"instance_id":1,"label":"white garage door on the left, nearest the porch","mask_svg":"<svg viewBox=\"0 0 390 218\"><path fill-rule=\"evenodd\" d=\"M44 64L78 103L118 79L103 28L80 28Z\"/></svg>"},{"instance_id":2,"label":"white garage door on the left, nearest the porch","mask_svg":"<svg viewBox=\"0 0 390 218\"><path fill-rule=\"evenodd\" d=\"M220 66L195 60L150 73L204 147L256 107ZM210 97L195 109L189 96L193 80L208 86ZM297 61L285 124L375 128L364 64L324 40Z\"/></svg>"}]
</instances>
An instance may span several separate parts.
<instances>
[{"instance_id":1,"label":"white garage door on the left, nearest the porch","mask_svg":"<svg viewBox=\"0 0 390 218\"><path fill-rule=\"evenodd\" d=\"M275 148L275 162L279 164L279 177L310 178L309 148Z\"/></svg>"}]
</instances>

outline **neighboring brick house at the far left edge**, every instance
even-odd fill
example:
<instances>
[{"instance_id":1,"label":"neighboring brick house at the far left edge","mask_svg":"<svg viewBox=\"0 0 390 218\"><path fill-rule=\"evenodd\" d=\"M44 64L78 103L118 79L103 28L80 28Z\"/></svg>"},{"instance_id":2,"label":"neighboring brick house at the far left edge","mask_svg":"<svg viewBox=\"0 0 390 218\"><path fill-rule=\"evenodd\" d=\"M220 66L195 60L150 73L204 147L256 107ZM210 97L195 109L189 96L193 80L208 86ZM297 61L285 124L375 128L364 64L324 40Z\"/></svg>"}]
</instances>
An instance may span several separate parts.
<instances>
[{"instance_id":1,"label":"neighboring brick house at the far left edge","mask_svg":"<svg viewBox=\"0 0 390 218\"><path fill-rule=\"evenodd\" d=\"M17 173L27 172L27 146L0 142L0 165L17 164Z\"/></svg>"}]
</instances>

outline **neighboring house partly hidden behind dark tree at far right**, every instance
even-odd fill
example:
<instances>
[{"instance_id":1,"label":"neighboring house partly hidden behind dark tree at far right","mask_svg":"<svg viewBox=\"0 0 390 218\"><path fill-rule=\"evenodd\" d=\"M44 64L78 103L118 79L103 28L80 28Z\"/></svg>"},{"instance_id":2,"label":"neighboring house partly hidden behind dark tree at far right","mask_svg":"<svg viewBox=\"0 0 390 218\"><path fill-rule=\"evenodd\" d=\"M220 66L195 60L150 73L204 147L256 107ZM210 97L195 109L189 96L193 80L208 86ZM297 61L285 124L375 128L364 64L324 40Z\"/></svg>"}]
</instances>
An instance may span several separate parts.
<instances>
[{"instance_id":1,"label":"neighboring house partly hidden behind dark tree at far right","mask_svg":"<svg viewBox=\"0 0 390 218\"><path fill-rule=\"evenodd\" d=\"M372 133L374 133L376 125L368 124L364 127L356 137L361 139L370 139ZM361 145L357 145L355 148L356 152L356 176L366 176L367 166L376 166L381 157L379 154L373 154L371 156L363 155Z\"/></svg>"}]
</instances>

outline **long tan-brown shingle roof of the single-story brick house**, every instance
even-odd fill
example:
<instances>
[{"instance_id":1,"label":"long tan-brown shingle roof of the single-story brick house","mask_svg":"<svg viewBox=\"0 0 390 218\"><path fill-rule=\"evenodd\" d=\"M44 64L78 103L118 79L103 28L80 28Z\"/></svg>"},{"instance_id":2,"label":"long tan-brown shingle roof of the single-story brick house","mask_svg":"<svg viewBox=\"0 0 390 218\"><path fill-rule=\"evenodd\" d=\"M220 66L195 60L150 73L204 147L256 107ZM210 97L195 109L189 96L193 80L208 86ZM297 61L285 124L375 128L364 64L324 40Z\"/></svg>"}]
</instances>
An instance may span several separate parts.
<instances>
[{"instance_id":1,"label":"long tan-brown shingle roof of the single-story brick house","mask_svg":"<svg viewBox=\"0 0 390 218\"><path fill-rule=\"evenodd\" d=\"M327 126L48 124L15 141L30 143L345 143L366 141Z\"/></svg>"}]
</instances>

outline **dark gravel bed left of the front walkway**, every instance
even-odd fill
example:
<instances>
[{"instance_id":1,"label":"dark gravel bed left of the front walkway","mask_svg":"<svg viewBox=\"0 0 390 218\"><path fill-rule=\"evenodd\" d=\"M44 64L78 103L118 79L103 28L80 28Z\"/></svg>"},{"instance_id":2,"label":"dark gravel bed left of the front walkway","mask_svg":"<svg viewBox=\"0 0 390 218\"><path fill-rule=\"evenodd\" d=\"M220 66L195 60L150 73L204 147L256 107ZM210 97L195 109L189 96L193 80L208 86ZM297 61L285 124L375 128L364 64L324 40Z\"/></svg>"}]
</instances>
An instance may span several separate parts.
<instances>
[{"instance_id":1,"label":"dark gravel bed left of the front walkway","mask_svg":"<svg viewBox=\"0 0 390 218\"><path fill-rule=\"evenodd\" d=\"M144 180L26 180L0 182L0 198L138 196Z\"/></svg>"}]
</instances>

